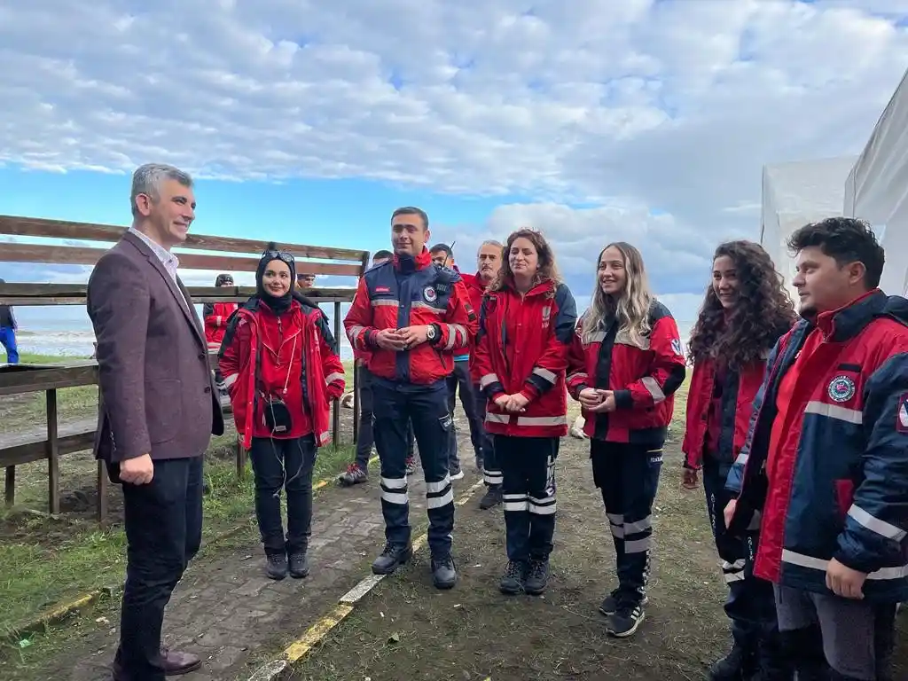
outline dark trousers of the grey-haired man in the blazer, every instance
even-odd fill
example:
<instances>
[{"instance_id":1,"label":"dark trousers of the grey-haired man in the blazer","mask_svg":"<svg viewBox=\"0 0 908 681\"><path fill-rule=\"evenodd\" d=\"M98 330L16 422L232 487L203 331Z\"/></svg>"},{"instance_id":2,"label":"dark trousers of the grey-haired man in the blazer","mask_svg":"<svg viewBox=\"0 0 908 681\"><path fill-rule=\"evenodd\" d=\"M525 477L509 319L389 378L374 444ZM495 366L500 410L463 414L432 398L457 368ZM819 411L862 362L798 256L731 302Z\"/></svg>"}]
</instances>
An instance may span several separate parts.
<instances>
[{"instance_id":1,"label":"dark trousers of the grey-haired man in the blazer","mask_svg":"<svg viewBox=\"0 0 908 681\"><path fill-rule=\"evenodd\" d=\"M202 457L154 461L147 485L123 483L126 584L120 646L122 681L163 681L164 607L202 543Z\"/></svg>"}]
</instances>

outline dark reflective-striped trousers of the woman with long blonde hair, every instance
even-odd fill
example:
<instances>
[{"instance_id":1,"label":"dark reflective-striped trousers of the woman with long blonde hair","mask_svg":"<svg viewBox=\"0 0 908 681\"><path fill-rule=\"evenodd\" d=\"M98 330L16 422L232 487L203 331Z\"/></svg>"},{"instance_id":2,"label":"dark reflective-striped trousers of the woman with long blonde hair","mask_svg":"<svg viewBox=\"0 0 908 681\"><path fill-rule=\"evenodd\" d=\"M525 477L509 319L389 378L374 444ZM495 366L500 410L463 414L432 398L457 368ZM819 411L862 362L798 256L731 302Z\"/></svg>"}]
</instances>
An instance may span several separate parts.
<instances>
[{"instance_id":1,"label":"dark reflective-striped trousers of the woman with long blonde hair","mask_svg":"<svg viewBox=\"0 0 908 681\"><path fill-rule=\"evenodd\" d=\"M640 601L649 581L653 501L662 469L662 449L590 440L593 479L602 492L615 544L621 596Z\"/></svg>"}]
</instances>

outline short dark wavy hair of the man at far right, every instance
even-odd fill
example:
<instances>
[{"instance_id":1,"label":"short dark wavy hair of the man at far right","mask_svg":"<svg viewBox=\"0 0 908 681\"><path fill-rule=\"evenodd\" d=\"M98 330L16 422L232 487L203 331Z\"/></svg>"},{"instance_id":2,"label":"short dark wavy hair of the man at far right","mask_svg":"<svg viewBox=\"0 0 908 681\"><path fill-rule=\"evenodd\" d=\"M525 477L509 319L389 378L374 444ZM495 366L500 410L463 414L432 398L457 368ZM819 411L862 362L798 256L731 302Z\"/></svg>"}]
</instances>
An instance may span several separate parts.
<instances>
[{"instance_id":1,"label":"short dark wavy hair of the man at far right","mask_svg":"<svg viewBox=\"0 0 908 681\"><path fill-rule=\"evenodd\" d=\"M868 289L880 285L883 276L885 251L870 222L856 218L834 217L820 222L810 222L788 238L788 250L793 253L811 246L818 247L824 255L833 258L839 267L851 262L864 264L864 283Z\"/></svg>"}]
</instances>

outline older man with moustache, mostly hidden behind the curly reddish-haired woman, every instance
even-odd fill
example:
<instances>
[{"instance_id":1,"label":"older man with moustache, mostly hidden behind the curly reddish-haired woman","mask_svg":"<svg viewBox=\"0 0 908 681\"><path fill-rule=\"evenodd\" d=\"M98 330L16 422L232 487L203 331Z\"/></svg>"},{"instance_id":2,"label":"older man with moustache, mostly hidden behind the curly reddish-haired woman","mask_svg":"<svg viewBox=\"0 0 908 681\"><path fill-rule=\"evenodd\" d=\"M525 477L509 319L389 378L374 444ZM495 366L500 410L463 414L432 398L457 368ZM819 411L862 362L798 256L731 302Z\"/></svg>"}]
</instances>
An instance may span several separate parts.
<instances>
[{"instance_id":1,"label":"older man with moustache, mostly hidden behind the curly reddish-haired woman","mask_svg":"<svg viewBox=\"0 0 908 681\"><path fill-rule=\"evenodd\" d=\"M489 284L498 277L501 270L501 253L504 245L501 242L489 240L479 245L476 254L476 274L463 274L464 283L467 285L469 300L474 310L482 307L482 297L489 288ZM479 499L479 508L487 510L501 503L501 468L495 457L495 445L489 431L486 430L486 394L479 388L479 377L476 367L476 352L470 357L470 382L473 384L473 394L476 397L476 415L479 420L479 460L477 466L482 470L483 482L486 493Z\"/></svg>"}]
</instances>

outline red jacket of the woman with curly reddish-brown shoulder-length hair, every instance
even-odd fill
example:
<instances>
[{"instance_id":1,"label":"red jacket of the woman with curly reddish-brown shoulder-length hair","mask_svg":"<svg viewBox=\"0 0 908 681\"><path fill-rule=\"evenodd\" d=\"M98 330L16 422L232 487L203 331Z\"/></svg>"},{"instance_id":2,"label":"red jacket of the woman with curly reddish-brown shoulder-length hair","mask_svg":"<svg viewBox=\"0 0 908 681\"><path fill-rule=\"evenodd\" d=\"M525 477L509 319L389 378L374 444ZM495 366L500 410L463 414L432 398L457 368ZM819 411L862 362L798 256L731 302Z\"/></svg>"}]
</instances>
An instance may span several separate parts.
<instances>
[{"instance_id":1,"label":"red jacket of the woman with curly reddish-brown shoulder-length hair","mask_svg":"<svg viewBox=\"0 0 908 681\"><path fill-rule=\"evenodd\" d=\"M565 370L576 323L577 305L565 284L543 281L522 300L509 285L486 293L474 358L479 389L489 400L487 432L524 438L568 434ZM495 403L516 393L529 400L520 413Z\"/></svg>"}]
</instances>

